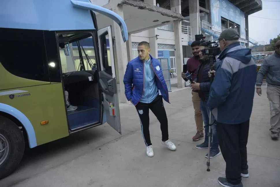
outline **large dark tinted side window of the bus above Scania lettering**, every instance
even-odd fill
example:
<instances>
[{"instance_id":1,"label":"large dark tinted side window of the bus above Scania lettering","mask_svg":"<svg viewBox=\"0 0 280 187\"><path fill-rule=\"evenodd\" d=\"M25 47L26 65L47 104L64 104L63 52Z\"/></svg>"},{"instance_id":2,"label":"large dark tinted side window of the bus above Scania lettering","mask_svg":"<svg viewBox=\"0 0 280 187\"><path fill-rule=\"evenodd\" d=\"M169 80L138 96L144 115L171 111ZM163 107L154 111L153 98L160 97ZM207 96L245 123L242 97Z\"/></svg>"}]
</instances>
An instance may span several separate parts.
<instances>
[{"instance_id":1,"label":"large dark tinted side window of the bus above Scania lettering","mask_svg":"<svg viewBox=\"0 0 280 187\"><path fill-rule=\"evenodd\" d=\"M50 82L44 33L0 28L0 63L13 75Z\"/></svg>"}]
</instances>

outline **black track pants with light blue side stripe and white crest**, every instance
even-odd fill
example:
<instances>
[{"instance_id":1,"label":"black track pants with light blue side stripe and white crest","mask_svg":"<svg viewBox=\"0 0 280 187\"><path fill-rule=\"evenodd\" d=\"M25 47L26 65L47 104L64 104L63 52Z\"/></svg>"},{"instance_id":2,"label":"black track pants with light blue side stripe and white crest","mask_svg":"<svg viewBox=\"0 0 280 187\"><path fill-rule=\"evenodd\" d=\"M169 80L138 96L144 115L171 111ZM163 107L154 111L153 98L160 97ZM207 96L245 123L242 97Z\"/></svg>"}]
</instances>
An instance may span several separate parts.
<instances>
[{"instance_id":1,"label":"black track pants with light blue side stripe and white crest","mask_svg":"<svg viewBox=\"0 0 280 187\"><path fill-rule=\"evenodd\" d=\"M139 102L136 106L136 110L140 117L142 135L145 141L146 146L152 145L150 139L150 118L149 118L149 109L154 113L158 121L160 122L160 129L162 134L162 140L168 140L168 122L165 108L163 106L163 98L161 95L158 95L152 103L141 103Z\"/></svg>"}]
</instances>

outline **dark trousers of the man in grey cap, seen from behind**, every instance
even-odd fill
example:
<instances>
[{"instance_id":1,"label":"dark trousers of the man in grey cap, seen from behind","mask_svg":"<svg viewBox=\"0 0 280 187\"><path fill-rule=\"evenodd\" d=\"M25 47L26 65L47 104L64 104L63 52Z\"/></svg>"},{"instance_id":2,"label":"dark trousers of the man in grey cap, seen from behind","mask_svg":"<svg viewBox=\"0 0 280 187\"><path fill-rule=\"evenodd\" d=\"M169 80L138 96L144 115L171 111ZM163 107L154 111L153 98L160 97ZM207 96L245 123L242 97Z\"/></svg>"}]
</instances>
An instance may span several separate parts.
<instances>
[{"instance_id":1,"label":"dark trousers of the man in grey cap, seen from behind","mask_svg":"<svg viewBox=\"0 0 280 187\"><path fill-rule=\"evenodd\" d=\"M230 125L217 123L219 145L226 162L225 175L232 184L241 182L241 171L248 169L247 142L250 120Z\"/></svg>"}]
</instances>

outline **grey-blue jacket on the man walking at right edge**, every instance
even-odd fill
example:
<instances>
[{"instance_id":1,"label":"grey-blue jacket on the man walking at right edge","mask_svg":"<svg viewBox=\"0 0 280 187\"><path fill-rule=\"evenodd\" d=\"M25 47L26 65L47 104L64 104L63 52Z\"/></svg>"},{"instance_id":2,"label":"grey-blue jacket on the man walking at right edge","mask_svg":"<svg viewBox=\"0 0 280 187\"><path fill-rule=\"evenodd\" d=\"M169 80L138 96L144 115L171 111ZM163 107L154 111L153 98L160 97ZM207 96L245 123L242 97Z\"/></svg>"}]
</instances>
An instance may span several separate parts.
<instances>
[{"instance_id":1,"label":"grey-blue jacket on the man walking at right edge","mask_svg":"<svg viewBox=\"0 0 280 187\"><path fill-rule=\"evenodd\" d=\"M264 75L266 75L267 85L280 87L280 55L274 53L262 61L262 66L257 73L257 88L261 88Z\"/></svg>"}]
</instances>

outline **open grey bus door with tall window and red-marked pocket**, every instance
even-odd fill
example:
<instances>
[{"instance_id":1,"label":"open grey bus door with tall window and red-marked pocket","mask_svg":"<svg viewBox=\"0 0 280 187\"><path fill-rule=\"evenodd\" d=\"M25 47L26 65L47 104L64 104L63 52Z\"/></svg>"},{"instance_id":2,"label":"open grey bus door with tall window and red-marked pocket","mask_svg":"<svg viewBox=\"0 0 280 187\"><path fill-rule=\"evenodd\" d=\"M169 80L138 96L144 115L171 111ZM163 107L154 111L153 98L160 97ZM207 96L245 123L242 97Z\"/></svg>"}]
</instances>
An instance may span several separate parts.
<instances>
[{"instance_id":1,"label":"open grey bus door with tall window and red-marked pocket","mask_svg":"<svg viewBox=\"0 0 280 187\"><path fill-rule=\"evenodd\" d=\"M111 27L105 27L98 30L98 46L100 55L101 71L99 71L99 86L102 90L102 112L103 119L102 124L107 122L117 132L121 132L120 124L120 111L119 111L119 99L117 90L117 80L115 73L114 55L113 55L113 42ZM109 39L109 51L107 46ZM111 62L109 62L109 59Z\"/></svg>"}]
</instances>

